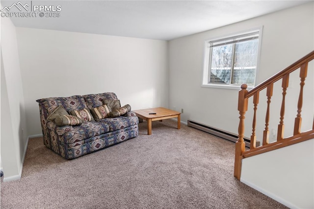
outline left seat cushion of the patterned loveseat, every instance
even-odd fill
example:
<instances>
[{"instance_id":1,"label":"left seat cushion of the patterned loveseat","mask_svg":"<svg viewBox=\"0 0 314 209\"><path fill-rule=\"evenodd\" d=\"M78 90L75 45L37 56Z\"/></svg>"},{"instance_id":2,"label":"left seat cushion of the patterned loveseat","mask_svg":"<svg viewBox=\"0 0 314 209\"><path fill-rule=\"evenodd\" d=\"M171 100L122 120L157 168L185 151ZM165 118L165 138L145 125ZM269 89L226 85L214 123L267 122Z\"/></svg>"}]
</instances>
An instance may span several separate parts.
<instances>
[{"instance_id":1,"label":"left seat cushion of the patterned loveseat","mask_svg":"<svg viewBox=\"0 0 314 209\"><path fill-rule=\"evenodd\" d=\"M80 126L56 127L56 132L64 144L71 144L91 137L99 136L110 131L105 123L89 121Z\"/></svg>"}]
</instances>

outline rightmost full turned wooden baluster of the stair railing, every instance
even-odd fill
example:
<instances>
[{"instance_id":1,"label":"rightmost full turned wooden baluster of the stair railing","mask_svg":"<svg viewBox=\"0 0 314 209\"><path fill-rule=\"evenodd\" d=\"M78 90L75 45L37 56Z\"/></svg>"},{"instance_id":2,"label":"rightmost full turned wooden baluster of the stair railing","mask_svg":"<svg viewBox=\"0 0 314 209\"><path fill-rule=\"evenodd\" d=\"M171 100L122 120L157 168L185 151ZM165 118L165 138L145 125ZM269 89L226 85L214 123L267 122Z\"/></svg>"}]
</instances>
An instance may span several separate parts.
<instances>
[{"instance_id":1,"label":"rightmost full turned wooden baluster of the stair railing","mask_svg":"<svg viewBox=\"0 0 314 209\"><path fill-rule=\"evenodd\" d=\"M301 131L301 123L302 123L302 118L301 118L301 111L302 111L302 103L303 103L303 86L305 84L305 78L308 72L308 63L304 63L301 65L300 69L300 94L299 94L299 100L298 100L298 114L296 115L296 118L294 120L294 131L293 135L296 135L300 133Z\"/></svg>"}]
</instances>

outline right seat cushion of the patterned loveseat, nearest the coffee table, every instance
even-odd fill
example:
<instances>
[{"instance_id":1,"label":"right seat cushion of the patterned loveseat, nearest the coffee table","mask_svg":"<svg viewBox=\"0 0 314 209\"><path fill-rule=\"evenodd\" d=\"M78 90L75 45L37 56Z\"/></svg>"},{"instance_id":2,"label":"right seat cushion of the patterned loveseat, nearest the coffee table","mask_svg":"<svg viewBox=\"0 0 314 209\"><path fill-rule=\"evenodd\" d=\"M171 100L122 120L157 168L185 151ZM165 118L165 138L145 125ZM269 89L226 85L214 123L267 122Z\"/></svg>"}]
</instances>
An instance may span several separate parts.
<instances>
[{"instance_id":1,"label":"right seat cushion of the patterned loveseat, nearest the coffee table","mask_svg":"<svg viewBox=\"0 0 314 209\"><path fill-rule=\"evenodd\" d=\"M100 122L108 124L110 131L122 130L130 126L138 124L138 118L136 116L132 117L116 117L116 118L104 118Z\"/></svg>"}]
</instances>

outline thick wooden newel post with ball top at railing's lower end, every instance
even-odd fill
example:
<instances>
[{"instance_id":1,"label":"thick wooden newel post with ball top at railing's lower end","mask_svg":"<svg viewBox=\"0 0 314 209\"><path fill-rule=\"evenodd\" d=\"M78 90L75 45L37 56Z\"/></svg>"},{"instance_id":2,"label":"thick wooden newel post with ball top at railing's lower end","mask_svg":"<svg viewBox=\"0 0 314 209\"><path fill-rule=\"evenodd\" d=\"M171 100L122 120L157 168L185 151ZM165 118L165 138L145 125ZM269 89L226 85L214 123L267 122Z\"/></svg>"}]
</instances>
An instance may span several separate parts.
<instances>
[{"instance_id":1,"label":"thick wooden newel post with ball top at railing's lower end","mask_svg":"<svg viewBox=\"0 0 314 209\"><path fill-rule=\"evenodd\" d=\"M245 143L244 143L244 119L245 119L245 112L247 111L247 105L248 105L248 98L245 98L245 94L247 92L246 90L247 85L242 84L241 90L239 91L239 97L238 97L238 105L237 109L239 111L239 128L238 128L238 139L235 142L235 173L234 176L240 180L241 176L241 160L242 160L242 153L245 151Z\"/></svg>"}]
</instances>

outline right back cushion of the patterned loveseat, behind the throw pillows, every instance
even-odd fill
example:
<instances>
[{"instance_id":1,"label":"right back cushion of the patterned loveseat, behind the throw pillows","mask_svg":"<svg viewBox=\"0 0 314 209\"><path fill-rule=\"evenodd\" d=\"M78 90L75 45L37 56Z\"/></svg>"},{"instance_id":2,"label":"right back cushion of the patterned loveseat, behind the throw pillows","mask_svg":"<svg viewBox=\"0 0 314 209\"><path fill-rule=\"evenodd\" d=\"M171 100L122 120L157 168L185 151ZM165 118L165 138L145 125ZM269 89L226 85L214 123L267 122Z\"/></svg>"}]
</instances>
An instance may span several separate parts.
<instances>
[{"instance_id":1,"label":"right back cushion of the patterned loveseat, behind the throw pillows","mask_svg":"<svg viewBox=\"0 0 314 209\"><path fill-rule=\"evenodd\" d=\"M118 100L118 97L113 92L106 92L100 94L88 94L82 96L85 99L86 105L89 109L102 106L103 100Z\"/></svg>"}]
</instances>

